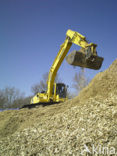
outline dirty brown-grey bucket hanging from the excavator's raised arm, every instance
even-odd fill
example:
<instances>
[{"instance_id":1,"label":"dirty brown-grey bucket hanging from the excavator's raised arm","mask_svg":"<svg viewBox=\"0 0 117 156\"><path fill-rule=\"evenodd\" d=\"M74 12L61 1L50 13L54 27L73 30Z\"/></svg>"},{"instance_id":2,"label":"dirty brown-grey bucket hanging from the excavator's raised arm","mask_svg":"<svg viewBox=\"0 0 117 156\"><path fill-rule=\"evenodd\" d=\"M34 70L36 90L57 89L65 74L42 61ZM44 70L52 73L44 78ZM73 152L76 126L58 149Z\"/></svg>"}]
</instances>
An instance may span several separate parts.
<instances>
[{"instance_id":1,"label":"dirty brown-grey bucket hanging from the excavator's raised arm","mask_svg":"<svg viewBox=\"0 0 117 156\"><path fill-rule=\"evenodd\" d=\"M70 65L90 68L94 70L101 68L103 59L103 57L94 55L87 58L85 53L76 50L72 51L68 56L66 56L66 61Z\"/></svg>"}]
</instances>

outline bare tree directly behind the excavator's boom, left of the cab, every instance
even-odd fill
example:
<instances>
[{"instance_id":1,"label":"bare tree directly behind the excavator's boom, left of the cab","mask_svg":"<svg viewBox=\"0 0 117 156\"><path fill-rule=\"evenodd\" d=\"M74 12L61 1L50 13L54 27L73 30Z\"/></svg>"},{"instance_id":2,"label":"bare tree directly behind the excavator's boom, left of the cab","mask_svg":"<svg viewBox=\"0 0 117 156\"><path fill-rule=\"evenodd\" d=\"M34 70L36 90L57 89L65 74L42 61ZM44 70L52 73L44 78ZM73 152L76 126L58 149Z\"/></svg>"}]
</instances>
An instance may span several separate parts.
<instances>
[{"instance_id":1,"label":"bare tree directly behind the excavator's boom, left of the cab","mask_svg":"<svg viewBox=\"0 0 117 156\"><path fill-rule=\"evenodd\" d=\"M42 80L39 83L36 83L31 87L32 93L35 95L42 91L46 91L47 90L47 80L48 80L48 73L45 73L42 76ZM62 82L62 80L60 79L58 74L55 78L55 82L56 83Z\"/></svg>"}]
</instances>

